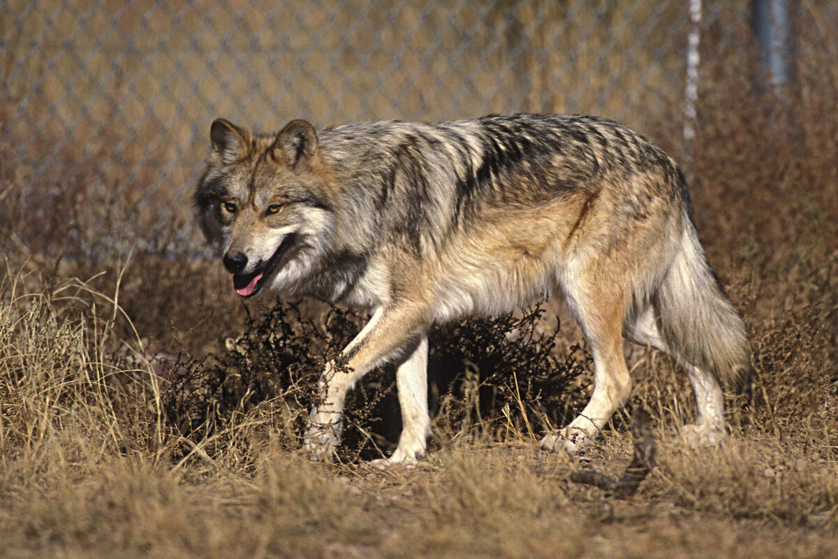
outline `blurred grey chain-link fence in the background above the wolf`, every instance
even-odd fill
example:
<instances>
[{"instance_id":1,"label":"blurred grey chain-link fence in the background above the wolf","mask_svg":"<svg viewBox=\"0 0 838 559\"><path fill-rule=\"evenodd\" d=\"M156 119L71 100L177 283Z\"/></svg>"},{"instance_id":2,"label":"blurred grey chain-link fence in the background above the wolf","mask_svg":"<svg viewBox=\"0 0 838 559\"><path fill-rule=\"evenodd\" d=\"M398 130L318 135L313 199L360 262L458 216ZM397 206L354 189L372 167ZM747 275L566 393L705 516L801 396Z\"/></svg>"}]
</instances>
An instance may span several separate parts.
<instances>
[{"instance_id":1,"label":"blurred grey chain-link fence in the background above the wolf","mask_svg":"<svg viewBox=\"0 0 838 559\"><path fill-rule=\"evenodd\" d=\"M188 213L173 209L216 116L263 131L502 111L683 126L688 34L702 59L735 54L751 17L704 0L691 20L689 4L0 0L4 157L28 169L24 189L85 173L163 221Z\"/></svg>"}]
</instances>

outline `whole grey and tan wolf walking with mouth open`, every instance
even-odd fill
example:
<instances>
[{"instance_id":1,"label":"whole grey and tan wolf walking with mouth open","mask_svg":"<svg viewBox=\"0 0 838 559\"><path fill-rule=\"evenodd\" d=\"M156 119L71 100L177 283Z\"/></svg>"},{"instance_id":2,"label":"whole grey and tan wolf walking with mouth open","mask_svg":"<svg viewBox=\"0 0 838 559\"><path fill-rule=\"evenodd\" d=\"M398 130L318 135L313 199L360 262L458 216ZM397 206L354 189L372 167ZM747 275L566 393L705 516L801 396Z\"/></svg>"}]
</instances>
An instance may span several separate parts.
<instances>
[{"instance_id":1,"label":"whole grey and tan wolf walking with mouth open","mask_svg":"<svg viewBox=\"0 0 838 559\"><path fill-rule=\"evenodd\" d=\"M742 318L706 260L675 161L595 116L454 122L303 120L250 132L223 119L194 205L235 292L313 296L371 318L319 383L304 446L329 458L347 392L396 365L402 432L386 463L426 453L427 333L559 294L587 339L593 391L541 446L575 452L629 397L623 338L685 370L696 444L726 433L722 385L748 370Z\"/></svg>"}]
</instances>

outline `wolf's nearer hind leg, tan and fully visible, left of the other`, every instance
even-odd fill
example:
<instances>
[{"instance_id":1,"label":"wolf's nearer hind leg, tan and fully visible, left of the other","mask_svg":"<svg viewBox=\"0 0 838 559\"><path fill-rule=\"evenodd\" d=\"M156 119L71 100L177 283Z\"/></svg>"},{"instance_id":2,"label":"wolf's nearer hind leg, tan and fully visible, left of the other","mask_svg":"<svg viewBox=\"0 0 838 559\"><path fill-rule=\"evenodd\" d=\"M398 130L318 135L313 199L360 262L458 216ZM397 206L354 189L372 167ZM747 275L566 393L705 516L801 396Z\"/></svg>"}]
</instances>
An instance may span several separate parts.
<instances>
[{"instance_id":1,"label":"wolf's nearer hind leg, tan and fully visible, left of the other","mask_svg":"<svg viewBox=\"0 0 838 559\"><path fill-rule=\"evenodd\" d=\"M627 296L622 286L603 282L600 267L585 267L566 278L564 292L593 355L591 400L569 425L541 439L541 447L576 452L600 432L629 398L631 377L623 356L623 314Z\"/></svg>"}]
</instances>

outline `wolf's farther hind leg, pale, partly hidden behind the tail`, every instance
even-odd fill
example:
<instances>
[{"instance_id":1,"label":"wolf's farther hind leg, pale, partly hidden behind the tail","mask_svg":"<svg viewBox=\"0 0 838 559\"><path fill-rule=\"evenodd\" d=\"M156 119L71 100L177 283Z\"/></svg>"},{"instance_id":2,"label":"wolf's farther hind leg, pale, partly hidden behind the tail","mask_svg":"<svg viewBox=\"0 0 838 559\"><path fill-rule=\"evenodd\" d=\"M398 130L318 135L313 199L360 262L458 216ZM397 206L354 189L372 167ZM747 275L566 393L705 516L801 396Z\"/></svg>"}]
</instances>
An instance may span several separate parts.
<instances>
[{"instance_id":1,"label":"wolf's farther hind leg, pale, partly hidden behind the tail","mask_svg":"<svg viewBox=\"0 0 838 559\"><path fill-rule=\"evenodd\" d=\"M660 329L654 305L648 304L626 323L625 336L635 344L649 345L672 356L686 371L696 395L696 422L684 427L684 436L692 447L713 446L725 435L722 385L706 370L692 365L667 344Z\"/></svg>"}]
</instances>

